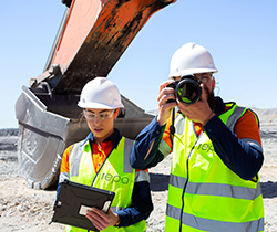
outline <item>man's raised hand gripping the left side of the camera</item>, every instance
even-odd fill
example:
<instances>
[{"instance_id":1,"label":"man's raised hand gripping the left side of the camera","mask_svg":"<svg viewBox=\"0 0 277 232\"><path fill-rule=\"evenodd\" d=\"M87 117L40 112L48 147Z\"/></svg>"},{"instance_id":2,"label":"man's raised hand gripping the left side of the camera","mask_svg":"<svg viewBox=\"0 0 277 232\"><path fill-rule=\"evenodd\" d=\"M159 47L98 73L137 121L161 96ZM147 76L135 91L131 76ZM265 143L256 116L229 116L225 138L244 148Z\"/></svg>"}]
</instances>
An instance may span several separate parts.
<instances>
[{"instance_id":1,"label":"man's raised hand gripping the left side of the camera","mask_svg":"<svg viewBox=\"0 0 277 232\"><path fill-rule=\"evenodd\" d=\"M158 106L157 123L161 126L163 126L170 118L172 108L177 106L176 102L166 103L168 99L176 99L174 89L171 87L165 87L171 83L173 83L173 81L168 80L160 85L160 91L157 96L157 106Z\"/></svg>"}]
</instances>

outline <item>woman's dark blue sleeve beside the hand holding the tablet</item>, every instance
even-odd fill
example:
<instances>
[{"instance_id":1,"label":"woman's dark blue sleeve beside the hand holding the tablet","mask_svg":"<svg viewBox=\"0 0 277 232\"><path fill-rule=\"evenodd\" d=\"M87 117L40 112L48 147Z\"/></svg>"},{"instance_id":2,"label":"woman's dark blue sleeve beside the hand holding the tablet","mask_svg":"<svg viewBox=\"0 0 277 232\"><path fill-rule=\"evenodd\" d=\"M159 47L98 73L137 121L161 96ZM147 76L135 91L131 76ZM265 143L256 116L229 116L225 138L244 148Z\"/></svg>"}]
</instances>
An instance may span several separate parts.
<instances>
[{"instance_id":1,"label":"woman's dark blue sleeve beside the hand holding the tablet","mask_svg":"<svg viewBox=\"0 0 277 232\"><path fill-rule=\"evenodd\" d=\"M153 211L150 183L147 181L134 183L132 201L133 204L131 207L115 212L121 220L120 228L146 220Z\"/></svg>"}]
</instances>

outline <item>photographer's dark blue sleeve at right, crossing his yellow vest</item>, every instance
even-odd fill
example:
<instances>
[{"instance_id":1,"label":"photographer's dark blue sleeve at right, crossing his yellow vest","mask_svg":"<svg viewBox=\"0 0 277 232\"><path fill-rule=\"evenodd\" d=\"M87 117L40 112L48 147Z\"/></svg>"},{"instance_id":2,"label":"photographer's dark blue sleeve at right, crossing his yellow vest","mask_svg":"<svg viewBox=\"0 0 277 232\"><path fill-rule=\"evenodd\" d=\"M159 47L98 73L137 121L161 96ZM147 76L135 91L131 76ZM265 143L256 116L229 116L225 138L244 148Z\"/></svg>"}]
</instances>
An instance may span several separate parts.
<instances>
[{"instance_id":1,"label":"photographer's dark blue sleeve at right, crossing his yellow vest","mask_svg":"<svg viewBox=\"0 0 277 232\"><path fill-rule=\"evenodd\" d=\"M237 138L217 116L204 126L204 130L216 154L232 171L245 180L257 176L264 162L261 150Z\"/></svg>"}]
</instances>

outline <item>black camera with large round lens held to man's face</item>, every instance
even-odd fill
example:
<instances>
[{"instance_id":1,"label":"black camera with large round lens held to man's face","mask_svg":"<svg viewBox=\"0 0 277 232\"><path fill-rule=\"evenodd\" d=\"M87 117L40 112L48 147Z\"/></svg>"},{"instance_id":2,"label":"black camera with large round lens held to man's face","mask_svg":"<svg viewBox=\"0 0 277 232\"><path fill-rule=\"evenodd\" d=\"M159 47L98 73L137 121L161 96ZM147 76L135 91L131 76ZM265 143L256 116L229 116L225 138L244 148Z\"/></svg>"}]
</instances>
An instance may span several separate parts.
<instances>
[{"instance_id":1,"label":"black camera with large round lens held to man's face","mask_svg":"<svg viewBox=\"0 0 277 232\"><path fill-rule=\"evenodd\" d=\"M184 75L179 81L173 82L166 87L174 88L176 98L185 105L192 105L196 103L202 95L201 81L196 80L194 75ZM175 101L167 101L167 103Z\"/></svg>"}]
</instances>

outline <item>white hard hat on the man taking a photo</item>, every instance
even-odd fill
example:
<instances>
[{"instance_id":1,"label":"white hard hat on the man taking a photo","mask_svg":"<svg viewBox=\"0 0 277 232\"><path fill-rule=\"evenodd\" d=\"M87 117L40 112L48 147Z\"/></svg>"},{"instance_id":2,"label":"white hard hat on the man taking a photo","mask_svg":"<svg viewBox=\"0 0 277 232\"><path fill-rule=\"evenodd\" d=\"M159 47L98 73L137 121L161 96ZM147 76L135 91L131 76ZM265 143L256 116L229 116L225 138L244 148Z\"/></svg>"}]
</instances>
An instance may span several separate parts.
<instances>
[{"instance_id":1,"label":"white hard hat on the man taking a photo","mask_svg":"<svg viewBox=\"0 0 277 232\"><path fill-rule=\"evenodd\" d=\"M217 68L209 52L195 43L186 43L181 46L171 60L170 77L216 72Z\"/></svg>"}]
</instances>

